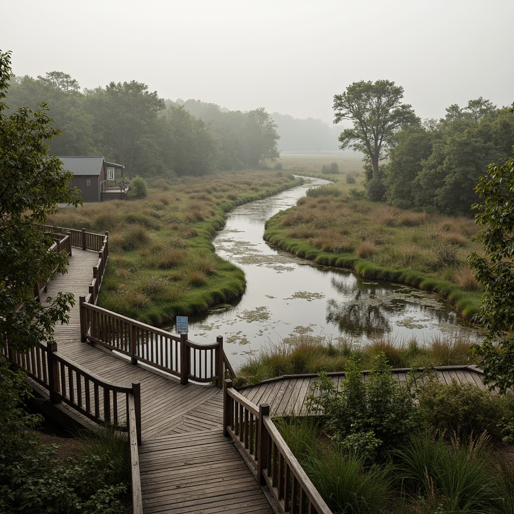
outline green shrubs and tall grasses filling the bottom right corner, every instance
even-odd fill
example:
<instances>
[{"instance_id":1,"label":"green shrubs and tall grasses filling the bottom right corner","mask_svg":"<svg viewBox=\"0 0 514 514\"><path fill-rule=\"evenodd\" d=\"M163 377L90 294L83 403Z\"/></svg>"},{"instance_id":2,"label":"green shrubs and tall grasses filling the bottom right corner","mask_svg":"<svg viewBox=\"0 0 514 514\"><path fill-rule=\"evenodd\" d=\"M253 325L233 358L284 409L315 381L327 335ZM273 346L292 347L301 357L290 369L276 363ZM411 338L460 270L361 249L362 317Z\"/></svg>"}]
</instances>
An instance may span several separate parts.
<instances>
[{"instance_id":1,"label":"green shrubs and tall grasses filling the bottom right corner","mask_svg":"<svg viewBox=\"0 0 514 514\"><path fill-rule=\"evenodd\" d=\"M507 461L493 455L487 431L466 432L462 423L457 425L458 432L439 430L442 420L451 427L452 409L463 399L478 396L481 403L474 412L467 412L467 420L479 427L484 414L481 409L491 412L487 403L493 400L487 392L474 384L469 388L475 388L476 394L465 384L440 384L444 391L437 394L434 407L417 403L433 393L432 380L425 390L411 379L410 387L402 391L398 382L388 380L383 355L376 358L376 369L384 375L363 381L357 368L355 374L352 371L346 376L340 394L326 375L313 384L311 405L324 408L324 416L275 420L334 512L512 512L514 474ZM398 409L401 396L408 405L404 412ZM444 410L441 398L452 396L453 403ZM438 412L431 415L431 409Z\"/></svg>"}]
</instances>

